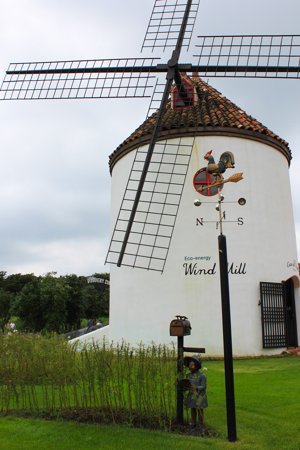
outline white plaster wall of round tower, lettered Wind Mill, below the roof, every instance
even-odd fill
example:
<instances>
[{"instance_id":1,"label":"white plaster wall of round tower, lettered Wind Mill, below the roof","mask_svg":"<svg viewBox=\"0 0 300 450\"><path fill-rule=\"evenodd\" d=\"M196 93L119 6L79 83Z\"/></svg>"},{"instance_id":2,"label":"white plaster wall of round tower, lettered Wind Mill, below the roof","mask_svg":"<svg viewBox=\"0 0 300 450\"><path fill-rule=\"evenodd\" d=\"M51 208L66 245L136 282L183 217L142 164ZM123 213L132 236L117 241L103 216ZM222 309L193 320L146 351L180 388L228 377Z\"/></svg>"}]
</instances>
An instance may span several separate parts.
<instances>
[{"instance_id":1,"label":"white plaster wall of round tower, lettered Wind Mill, below the roof","mask_svg":"<svg viewBox=\"0 0 300 450\"><path fill-rule=\"evenodd\" d=\"M182 139L182 144L192 138ZM186 142L184 142L186 140ZM172 139L175 143L177 139ZM163 274L111 264L110 340L125 339L131 344L168 344L170 321L186 315L192 325L185 346L206 347L208 355L223 354L222 317L219 285L218 235L214 223L196 225L197 218L217 221L217 196L206 198L195 192L193 177L205 167L203 156L212 151L215 161L225 151L233 153L235 168L225 178L243 172L244 179L224 184L225 202L246 198L246 205L224 203L229 268L233 272L246 263L245 274L229 273L234 355L280 353L282 349L262 349L260 320L260 281L280 282L291 276L299 285L296 236L287 159L273 147L250 139L226 136L196 138L188 167L182 199ZM121 158L112 171L111 235L134 160L135 150ZM200 207L193 201L200 197ZM243 225L230 222L242 217ZM191 261L185 258L209 257ZM288 261L294 266L287 267ZM213 275L186 275L184 264L195 270L212 269ZM300 336L300 295L296 291L298 335Z\"/></svg>"}]
</instances>

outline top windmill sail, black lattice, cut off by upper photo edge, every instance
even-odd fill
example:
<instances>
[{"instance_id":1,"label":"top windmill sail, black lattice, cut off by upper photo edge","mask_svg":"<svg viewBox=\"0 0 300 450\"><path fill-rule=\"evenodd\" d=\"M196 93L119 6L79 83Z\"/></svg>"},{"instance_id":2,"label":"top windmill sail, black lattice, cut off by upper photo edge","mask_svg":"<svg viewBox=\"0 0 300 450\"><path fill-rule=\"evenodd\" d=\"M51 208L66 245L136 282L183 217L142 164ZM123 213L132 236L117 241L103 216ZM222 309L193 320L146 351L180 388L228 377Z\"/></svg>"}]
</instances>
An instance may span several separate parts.
<instances>
[{"instance_id":1,"label":"top windmill sail, black lattice, cut off by upper photo edge","mask_svg":"<svg viewBox=\"0 0 300 450\"><path fill-rule=\"evenodd\" d=\"M199 0L155 0L150 22L143 41L144 48L175 47L183 23L186 6L189 5L182 46L189 47L198 11Z\"/></svg>"}]
</instances>

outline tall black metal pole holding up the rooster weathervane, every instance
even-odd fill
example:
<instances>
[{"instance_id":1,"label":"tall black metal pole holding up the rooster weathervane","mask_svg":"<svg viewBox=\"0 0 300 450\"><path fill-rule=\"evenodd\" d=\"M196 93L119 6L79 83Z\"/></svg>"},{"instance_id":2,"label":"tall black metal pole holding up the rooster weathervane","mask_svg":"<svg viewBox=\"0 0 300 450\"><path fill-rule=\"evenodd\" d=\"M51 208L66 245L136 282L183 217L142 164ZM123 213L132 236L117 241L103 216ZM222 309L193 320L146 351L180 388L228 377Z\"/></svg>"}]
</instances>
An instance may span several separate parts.
<instances>
[{"instance_id":1,"label":"tall black metal pole holding up the rooster weathervane","mask_svg":"<svg viewBox=\"0 0 300 450\"><path fill-rule=\"evenodd\" d=\"M221 303L222 303L222 322L223 322L227 432L228 432L228 441L235 442L237 440L237 426L235 420L234 379L233 379L226 236L224 236L224 234L220 234L218 237L218 242L219 242L220 284L221 284Z\"/></svg>"}]
</instances>

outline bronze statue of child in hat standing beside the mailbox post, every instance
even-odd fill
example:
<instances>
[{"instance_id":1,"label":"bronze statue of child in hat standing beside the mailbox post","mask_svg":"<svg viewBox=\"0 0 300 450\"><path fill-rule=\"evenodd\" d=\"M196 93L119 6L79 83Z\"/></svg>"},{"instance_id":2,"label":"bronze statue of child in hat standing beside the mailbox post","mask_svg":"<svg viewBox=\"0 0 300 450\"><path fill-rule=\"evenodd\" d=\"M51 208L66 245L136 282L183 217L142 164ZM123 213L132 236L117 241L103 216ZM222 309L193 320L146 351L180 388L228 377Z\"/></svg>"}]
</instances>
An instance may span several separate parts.
<instances>
[{"instance_id":1,"label":"bronze statue of child in hat standing beside the mailbox post","mask_svg":"<svg viewBox=\"0 0 300 450\"><path fill-rule=\"evenodd\" d=\"M206 375L200 372L201 358L199 356L186 356L184 358L184 365L188 367L190 373L186 379L189 380L190 386L186 388L188 390L188 396L184 401L184 406L191 408L192 423L188 428L190 434L199 435L203 434L205 428L203 427L203 408L208 407L206 396ZM197 420L198 410L198 424Z\"/></svg>"}]
</instances>

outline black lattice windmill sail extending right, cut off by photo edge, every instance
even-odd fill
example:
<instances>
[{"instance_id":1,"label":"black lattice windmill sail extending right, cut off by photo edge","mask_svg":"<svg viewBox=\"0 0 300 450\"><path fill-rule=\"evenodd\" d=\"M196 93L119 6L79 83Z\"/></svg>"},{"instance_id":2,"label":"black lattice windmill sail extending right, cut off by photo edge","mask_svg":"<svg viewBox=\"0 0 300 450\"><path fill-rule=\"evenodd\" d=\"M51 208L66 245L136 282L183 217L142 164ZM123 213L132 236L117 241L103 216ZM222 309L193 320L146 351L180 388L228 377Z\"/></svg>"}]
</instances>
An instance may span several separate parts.
<instances>
[{"instance_id":1,"label":"black lattice windmill sail extending right, cut off by photo edge","mask_svg":"<svg viewBox=\"0 0 300 450\"><path fill-rule=\"evenodd\" d=\"M300 36L198 36L201 76L299 78Z\"/></svg>"}]
</instances>

